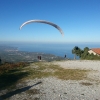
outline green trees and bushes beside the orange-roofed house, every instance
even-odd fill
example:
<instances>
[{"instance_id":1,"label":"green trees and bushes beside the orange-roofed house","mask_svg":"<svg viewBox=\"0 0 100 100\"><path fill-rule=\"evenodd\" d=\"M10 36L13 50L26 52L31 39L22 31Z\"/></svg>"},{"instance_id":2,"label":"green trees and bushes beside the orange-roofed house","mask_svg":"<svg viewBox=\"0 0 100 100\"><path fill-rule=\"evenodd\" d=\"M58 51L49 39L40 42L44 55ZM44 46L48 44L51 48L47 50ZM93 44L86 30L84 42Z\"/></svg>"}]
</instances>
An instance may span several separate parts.
<instances>
[{"instance_id":1,"label":"green trees and bushes beside the orange-roofed house","mask_svg":"<svg viewBox=\"0 0 100 100\"><path fill-rule=\"evenodd\" d=\"M81 50L78 46L75 46L72 49L72 53L75 54L75 56L79 56L80 59L100 60L100 56L94 55L94 54L89 54L88 51L89 51L88 47L85 47L84 50Z\"/></svg>"}]
</instances>

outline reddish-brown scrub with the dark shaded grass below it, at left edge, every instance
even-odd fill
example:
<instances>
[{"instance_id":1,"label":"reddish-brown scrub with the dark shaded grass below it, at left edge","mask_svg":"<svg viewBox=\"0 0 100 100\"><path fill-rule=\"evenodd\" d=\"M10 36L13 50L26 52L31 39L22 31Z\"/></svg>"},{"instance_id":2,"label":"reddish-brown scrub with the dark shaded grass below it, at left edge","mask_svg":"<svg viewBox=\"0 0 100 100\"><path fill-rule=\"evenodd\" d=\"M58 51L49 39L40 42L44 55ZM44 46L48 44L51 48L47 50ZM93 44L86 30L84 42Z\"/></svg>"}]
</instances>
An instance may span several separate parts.
<instances>
[{"instance_id":1,"label":"reddish-brown scrub with the dark shaded grass below it, at left edge","mask_svg":"<svg viewBox=\"0 0 100 100\"><path fill-rule=\"evenodd\" d=\"M28 72L22 72L26 63L0 65L0 89L13 87L20 79L28 75Z\"/></svg>"}]
</instances>

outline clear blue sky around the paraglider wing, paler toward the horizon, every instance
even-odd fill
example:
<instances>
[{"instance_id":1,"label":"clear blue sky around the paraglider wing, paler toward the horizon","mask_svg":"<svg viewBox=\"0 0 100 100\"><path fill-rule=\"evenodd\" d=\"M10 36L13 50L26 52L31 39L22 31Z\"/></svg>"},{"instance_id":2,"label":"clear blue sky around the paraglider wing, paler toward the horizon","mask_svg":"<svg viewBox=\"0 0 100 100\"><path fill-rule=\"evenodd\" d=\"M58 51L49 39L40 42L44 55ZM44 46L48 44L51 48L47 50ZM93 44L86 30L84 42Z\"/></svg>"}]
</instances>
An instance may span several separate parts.
<instances>
[{"instance_id":1,"label":"clear blue sky around the paraglider wing, paler toward the horizon","mask_svg":"<svg viewBox=\"0 0 100 100\"><path fill-rule=\"evenodd\" d=\"M47 20L61 27L28 20ZM100 0L0 0L0 42L100 42Z\"/></svg>"}]
</instances>

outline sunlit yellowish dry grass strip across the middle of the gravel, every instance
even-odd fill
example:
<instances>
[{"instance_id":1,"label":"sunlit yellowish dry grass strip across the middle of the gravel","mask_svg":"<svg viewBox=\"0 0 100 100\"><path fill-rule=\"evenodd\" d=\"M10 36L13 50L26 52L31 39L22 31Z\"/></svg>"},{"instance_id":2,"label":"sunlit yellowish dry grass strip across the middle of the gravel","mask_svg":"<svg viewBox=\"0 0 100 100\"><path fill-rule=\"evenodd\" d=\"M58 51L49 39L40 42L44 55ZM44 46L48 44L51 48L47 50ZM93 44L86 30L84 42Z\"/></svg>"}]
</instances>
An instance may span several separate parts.
<instances>
[{"instance_id":1,"label":"sunlit yellowish dry grass strip across the middle of the gravel","mask_svg":"<svg viewBox=\"0 0 100 100\"><path fill-rule=\"evenodd\" d=\"M37 66L37 67L35 67ZM83 80L87 77L89 70L81 69L64 69L52 63L38 62L34 63L33 67L27 67L29 76L27 78L42 78L48 76L55 76L63 80Z\"/></svg>"}]
</instances>

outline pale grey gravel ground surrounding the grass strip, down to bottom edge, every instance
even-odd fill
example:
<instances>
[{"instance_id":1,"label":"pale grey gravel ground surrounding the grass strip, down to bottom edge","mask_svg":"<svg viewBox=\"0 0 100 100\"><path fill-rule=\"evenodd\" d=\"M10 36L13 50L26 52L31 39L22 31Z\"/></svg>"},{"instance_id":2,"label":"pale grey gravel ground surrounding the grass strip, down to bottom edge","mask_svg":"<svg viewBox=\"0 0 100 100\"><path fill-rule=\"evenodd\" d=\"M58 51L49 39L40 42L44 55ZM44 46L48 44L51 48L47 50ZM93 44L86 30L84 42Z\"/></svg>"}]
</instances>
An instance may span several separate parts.
<instances>
[{"instance_id":1,"label":"pale grey gravel ground surrounding the grass strip, down to bottom edge","mask_svg":"<svg viewBox=\"0 0 100 100\"><path fill-rule=\"evenodd\" d=\"M49 62L65 69L86 69L88 79L61 80L56 77L28 79L17 89L0 91L0 100L100 100L100 61Z\"/></svg>"}]
</instances>

